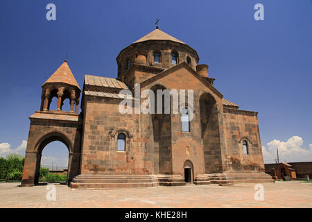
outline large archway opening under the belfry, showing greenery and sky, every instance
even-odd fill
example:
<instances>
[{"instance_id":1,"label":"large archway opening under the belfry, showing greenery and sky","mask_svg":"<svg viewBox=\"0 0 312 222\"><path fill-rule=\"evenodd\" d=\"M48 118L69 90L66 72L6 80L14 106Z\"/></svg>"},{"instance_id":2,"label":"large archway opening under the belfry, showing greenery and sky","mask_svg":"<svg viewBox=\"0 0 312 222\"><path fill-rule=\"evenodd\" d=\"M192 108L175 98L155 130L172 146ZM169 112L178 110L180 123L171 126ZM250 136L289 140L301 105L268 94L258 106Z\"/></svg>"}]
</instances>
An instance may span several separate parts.
<instances>
[{"instance_id":1,"label":"large archway opening under the belfry, showing greenery and sky","mask_svg":"<svg viewBox=\"0 0 312 222\"><path fill-rule=\"evenodd\" d=\"M69 151L65 144L53 141L47 144L41 153L39 183L61 182L68 178Z\"/></svg>"}]
</instances>

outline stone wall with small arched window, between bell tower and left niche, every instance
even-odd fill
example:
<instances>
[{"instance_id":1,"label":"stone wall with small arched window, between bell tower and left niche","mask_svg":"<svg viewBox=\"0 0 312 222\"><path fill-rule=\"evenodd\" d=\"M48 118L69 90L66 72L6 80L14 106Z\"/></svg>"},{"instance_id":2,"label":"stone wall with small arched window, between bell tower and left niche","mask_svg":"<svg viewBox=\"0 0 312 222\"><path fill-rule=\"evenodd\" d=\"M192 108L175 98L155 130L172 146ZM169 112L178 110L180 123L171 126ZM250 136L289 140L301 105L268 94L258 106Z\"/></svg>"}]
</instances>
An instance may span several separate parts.
<instances>
[{"instance_id":1,"label":"stone wall with small arched window, between bell tower and left niche","mask_svg":"<svg viewBox=\"0 0 312 222\"><path fill-rule=\"evenodd\" d=\"M85 126L81 174L150 174L138 114L119 113L118 99L85 96ZM117 151L119 133L126 135L125 151Z\"/></svg>"}]
</instances>

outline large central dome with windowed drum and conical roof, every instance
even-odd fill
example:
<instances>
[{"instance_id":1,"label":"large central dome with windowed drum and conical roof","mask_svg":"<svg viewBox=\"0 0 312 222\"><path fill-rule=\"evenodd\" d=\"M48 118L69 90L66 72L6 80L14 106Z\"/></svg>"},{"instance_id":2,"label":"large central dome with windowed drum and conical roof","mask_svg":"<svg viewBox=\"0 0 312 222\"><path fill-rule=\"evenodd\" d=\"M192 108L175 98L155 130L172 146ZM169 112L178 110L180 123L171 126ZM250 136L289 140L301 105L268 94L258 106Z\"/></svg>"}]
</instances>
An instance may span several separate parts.
<instances>
[{"instance_id":1,"label":"large central dome with windowed drum and conical roof","mask_svg":"<svg viewBox=\"0 0 312 222\"><path fill-rule=\"evenodd\" d=\"M141 58L144 58L144 62ZM156 28L121 50L116 61L118 77L123 79L134 64L165 70L182 62L187 62L190 67L196 70L199 57L196 50L191 46Z\"/></svg>"}]
</instances>

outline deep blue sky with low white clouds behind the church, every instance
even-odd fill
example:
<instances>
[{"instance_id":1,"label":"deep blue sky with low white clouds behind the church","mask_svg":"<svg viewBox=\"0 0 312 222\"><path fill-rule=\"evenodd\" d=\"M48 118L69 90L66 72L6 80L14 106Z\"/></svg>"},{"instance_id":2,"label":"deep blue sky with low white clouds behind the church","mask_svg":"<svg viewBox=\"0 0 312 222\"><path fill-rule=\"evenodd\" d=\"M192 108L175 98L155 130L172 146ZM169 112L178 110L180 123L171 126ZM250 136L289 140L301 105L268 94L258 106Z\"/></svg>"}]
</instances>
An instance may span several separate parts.
<instances>
[{"instance_id":1,"label":"deep blue sky with low white clouds behind the church","mask_svg":"<svg viewBox=\"0 0 312 222\"><path fill-rule=\"evenodd\" d=\"M48 3L56 21L46 20ZM264 21L254 19L256 3ZM24 147L41 85L65 53L80 87L85 74L116 78L119 51L153 31L157 17L162 31L196 49L225 99L259 112L266 162L276 147L288 162L293 153L312 161L311 12L311 0L2 0L0 155ZM68 155L53 149L58 142L48 146L47 157Z\"/></svg>"}]
</instances>

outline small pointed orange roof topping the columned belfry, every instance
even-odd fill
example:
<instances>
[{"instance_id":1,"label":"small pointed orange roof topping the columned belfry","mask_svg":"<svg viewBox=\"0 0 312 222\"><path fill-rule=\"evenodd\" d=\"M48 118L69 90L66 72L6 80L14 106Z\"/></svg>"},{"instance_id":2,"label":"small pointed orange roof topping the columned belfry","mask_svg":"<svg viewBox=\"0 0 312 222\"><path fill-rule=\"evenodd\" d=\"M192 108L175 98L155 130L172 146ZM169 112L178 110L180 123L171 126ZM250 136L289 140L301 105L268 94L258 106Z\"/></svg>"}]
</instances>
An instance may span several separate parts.
<instances>
[{"instance_id":1,"label":"small pointed orange roof topping the columned belfry","mask_svg":"<svg viewBox=\"0 0 312 222\"><path fill-rule=\"evenodd\" d=\"M58 67L58 69L52 74L52 76L50 76L50 78L48 78L48 80L46 80L42 86L46 85L46 83L67 83L80 89L76 78L73 76L71 69L69 69L67 60L64 60L63 64Z\"/></svg>"}]
</instances>

